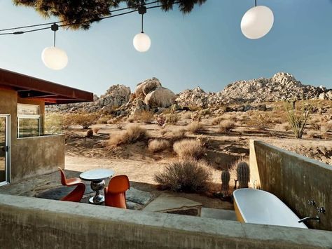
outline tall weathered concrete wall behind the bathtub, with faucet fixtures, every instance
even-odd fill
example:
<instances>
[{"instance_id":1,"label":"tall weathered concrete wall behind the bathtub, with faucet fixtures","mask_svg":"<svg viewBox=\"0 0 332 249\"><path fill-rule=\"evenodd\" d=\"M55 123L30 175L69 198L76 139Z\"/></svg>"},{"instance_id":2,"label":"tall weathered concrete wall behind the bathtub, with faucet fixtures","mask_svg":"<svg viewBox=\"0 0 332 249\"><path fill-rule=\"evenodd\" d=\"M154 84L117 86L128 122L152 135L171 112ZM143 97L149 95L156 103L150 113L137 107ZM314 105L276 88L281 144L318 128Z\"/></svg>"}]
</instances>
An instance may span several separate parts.
<instances>
[{"instance_id":1,"label":"tall weathered concrete wall behind the bathtub, with faucet fixtures","mask_svg":"<svg viewBox=\"0 0 332 249\"><path fill-rule=\"evenodd\" d=\"M251 184L280 198L299 217L316 216L314 200L326 208L309 227L332 231L332 166L259 141L250 141Z\"/></svg>"}]
</instances>

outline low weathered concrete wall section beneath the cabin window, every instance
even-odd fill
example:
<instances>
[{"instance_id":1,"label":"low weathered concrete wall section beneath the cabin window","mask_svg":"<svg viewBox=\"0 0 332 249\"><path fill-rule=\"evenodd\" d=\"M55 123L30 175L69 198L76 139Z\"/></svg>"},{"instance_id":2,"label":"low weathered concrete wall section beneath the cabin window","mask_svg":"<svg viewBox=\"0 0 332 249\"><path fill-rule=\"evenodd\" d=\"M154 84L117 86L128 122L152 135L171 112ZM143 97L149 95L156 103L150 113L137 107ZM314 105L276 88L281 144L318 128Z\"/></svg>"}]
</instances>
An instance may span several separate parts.
<instances>
[{"instance_id":1,"label":"low weathered concrete wall section beneath the cabin window","mask_svg":"<svg viewBox=\"0 0 332 249\"><path fill-rule=\"evenodd\" d=\"M17 139L11 155L11 182L64 168L64 135Z\"/></svg>"}]
</instances>

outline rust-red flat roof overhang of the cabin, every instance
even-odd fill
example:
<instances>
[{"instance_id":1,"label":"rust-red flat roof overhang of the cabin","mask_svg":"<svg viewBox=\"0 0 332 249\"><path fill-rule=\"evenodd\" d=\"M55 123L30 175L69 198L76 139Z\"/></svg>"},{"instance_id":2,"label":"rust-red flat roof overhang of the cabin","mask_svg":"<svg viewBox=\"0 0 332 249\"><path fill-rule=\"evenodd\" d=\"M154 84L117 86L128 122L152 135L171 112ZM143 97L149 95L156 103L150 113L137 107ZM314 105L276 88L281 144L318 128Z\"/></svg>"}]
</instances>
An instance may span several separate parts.
<instances>
[{"instance_id":1,"label":"rust-red flat roof overhang of the cabin","mask_svg":"<svg viewBox=\"0 0 332 249\"><path fill-rule=\"evenodd\" d=\"M0 69L1 86L17 91L18 96L23 99L43 100L45 105L93 101L93 93L85 90L63 86L5 69Z\"/></svg>"}]
</instances>

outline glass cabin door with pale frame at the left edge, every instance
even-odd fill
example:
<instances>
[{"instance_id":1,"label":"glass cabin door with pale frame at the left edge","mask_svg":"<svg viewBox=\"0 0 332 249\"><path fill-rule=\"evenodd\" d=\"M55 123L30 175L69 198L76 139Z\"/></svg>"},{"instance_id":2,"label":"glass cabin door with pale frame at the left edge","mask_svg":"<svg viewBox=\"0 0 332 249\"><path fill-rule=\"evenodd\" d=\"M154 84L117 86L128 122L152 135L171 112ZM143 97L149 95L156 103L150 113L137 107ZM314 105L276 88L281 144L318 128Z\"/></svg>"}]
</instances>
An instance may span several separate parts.
<instances>
[{"instance_id":1,"label":"glass cabin door with pale frame at the left edge","mask_svg":"<svg viewBox=\"0 0 332 249\"><path fill-rule=\"evenodd\" d=\"M9 116L0 114L0 186L9 182Z\"/></svg>"}]
</instances>

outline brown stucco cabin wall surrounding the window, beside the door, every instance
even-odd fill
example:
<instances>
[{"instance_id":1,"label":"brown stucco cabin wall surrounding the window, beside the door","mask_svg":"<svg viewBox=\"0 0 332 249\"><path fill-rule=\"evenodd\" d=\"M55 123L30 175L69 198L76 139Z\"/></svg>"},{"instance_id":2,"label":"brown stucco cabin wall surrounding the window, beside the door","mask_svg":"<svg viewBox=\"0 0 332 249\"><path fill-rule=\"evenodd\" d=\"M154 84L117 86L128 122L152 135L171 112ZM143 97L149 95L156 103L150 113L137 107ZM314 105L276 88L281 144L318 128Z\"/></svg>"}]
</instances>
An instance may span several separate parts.
<instances>
[{"instance_id":1,"label":"brown stucco cabin wall surrounding the window, beside the door","mask_svg":"<svg viewBox=\"0 0 332 249\"><path fill-rule=\"evenodd\" d=\"M64 168L63 135L17 138L18 103L39 105L42 122L45 109L43 101L21 99L15 90L0 86L0 114L11 115L11 182Z\"/></svg>"}]
</instances>

